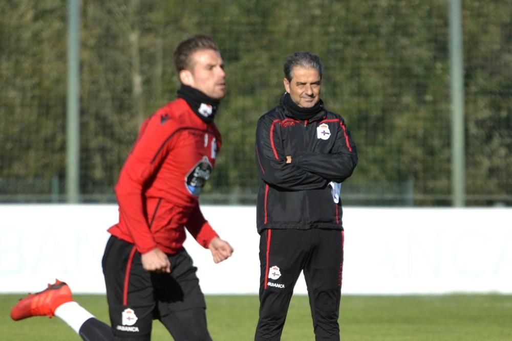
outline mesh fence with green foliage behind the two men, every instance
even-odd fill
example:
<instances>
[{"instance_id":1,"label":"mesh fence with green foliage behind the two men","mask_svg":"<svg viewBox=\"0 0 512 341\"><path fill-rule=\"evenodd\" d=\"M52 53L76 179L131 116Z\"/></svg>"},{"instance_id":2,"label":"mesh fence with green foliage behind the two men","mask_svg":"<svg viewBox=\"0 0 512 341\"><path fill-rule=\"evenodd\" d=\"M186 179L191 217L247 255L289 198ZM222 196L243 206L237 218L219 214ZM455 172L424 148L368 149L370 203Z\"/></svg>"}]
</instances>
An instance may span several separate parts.
<instances>
[{"instance_id":1,"label":"mesh fence with green foliage behind the two men","mask_svg":"<svg viewBox=\"0 0 512 341\"><path fill-rule=\"evenodd\" d=\"M173 51L209 34L226 63L223 148L202 201L255 202L258 118L283 93L286 56L318 54L322 98L346 120L359 165L345 204L448 206L446 0L82 0L80 199L113 202L143 118L176 95ZM0 201L66 200L65 0L0 2ZM466 204L511 205L512 3L462 4Z\"/></svg>"}]
</instances>

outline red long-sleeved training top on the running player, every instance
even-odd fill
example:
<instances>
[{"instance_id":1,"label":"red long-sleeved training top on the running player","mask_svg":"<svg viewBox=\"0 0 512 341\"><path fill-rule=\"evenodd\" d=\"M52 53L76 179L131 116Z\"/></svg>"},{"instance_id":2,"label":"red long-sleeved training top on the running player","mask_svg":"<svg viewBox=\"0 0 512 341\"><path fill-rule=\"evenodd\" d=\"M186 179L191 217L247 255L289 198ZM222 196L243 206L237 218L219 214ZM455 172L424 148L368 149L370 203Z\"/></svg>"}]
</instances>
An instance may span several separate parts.
<instances>
[{"instance_id":1,"label":"red long-sleeved training top on the running player","mask_svg":"<svg viewBox=\"0 0 512 341\"><path fill-rule=\"evenodd\" d=\"M221 135L178 98L141 125L121 169L115 193L119 222L109 232L141 254L159 247L177 253L185 230L207 248L217 233L204 219L198 196L215 166Z\"/></svg>"}]
</instances>

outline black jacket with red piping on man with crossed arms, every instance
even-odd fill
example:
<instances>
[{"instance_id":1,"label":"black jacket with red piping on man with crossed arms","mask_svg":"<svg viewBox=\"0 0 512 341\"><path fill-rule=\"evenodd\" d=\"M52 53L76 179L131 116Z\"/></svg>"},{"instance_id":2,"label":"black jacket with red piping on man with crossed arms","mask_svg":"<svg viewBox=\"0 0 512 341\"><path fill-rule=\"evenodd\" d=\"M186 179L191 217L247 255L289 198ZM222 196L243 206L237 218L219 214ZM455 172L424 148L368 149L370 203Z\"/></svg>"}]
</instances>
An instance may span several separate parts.
<instances>
[{"instance_id":1,"label":"black jacket with red piping on man with crossed arms","mask_svg":"<svg viewBox=\"0 0 512 341\"><path fill-rule=\"evenodd\" d=\"M342 206L330 181L342 183L357 165L357 151L342 117L325 110L309 121L283 105L258 121L256 163L261 175L258 233L265 229L343 230ZM286 156L291 155L291 164Z\"/></svg>"}]
</instances>

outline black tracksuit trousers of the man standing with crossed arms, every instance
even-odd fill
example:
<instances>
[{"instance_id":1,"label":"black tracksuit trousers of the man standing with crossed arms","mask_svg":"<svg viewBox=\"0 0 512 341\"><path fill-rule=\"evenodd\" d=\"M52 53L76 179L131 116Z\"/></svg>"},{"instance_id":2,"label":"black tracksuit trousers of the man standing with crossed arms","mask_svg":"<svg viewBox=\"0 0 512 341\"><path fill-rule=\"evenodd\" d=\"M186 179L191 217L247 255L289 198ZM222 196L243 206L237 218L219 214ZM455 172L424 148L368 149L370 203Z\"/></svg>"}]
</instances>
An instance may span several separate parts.
<instances>
[{"instance_id":1,"label":"black tracksuit trousers of the man standing with crossed arms","mask_svg":"<svg viewBox=\"0 0 512 341\"><path fill-rule=\"evenodd\" d=\"M279 340L304 270L316 340L339 340L343 231L265 230L260 236L260 318L254 339Z\"/></svg>"}]
</instances>

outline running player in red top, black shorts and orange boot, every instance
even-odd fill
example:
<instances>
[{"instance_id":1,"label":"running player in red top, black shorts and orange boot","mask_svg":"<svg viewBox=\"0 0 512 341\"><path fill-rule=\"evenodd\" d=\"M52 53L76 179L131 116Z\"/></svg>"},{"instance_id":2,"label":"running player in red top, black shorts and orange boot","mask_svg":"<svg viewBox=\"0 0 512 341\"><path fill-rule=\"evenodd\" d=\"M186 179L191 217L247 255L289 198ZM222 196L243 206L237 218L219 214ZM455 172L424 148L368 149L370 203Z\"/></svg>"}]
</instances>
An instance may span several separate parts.
<instances>
[{"instance_id":1,"label":"running player in red top, black shorts and orange boot","mask_svg":"<svg viewBox=\"0 0 512 341\"><path fill-rule=\"evenodd\" d=\"M219 49L207 36L179 44L174 54L178 99L146 119L115 187L119 223L103 255L112 327L72 301L57 281L20 300L14 320L56 315L84 340L150 340L158 319L177 340L210 340L196 267L183 248L185 228L215 263L233 249L204 219L198 196L215 166L221 135L214 117L224 98Z\"/></svg>"}]
</instances>

